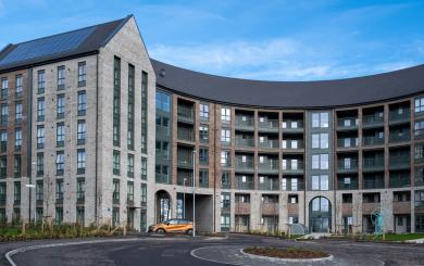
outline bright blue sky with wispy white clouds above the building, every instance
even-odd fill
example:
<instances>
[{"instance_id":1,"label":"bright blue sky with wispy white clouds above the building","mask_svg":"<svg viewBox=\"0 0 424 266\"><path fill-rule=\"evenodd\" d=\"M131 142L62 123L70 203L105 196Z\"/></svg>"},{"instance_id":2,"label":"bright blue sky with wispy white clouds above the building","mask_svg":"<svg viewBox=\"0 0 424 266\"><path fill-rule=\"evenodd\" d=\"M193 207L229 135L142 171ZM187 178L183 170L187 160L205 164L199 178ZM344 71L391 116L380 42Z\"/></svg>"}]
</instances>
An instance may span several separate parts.
<instances>
[{"instance_id":1,"label":"bright blue sky with wispy white clouds above the building","mask_svg":"<svg viewBox=\"0 0 424 266\"><path fill-rule=\"evenodd\" d=\"M210 74L312 80L424 63L423 0L0 0L0 46L130 13L152 58Z\"/></svg>"}]
</instances>

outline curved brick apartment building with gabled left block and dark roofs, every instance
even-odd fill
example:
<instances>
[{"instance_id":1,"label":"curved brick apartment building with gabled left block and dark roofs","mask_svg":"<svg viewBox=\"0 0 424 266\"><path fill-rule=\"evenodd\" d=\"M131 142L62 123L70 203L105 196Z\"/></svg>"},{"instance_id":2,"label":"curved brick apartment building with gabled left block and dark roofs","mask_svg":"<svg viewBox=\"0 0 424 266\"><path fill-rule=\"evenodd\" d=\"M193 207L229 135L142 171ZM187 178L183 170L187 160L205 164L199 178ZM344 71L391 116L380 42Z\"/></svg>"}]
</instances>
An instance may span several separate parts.
<instances>
[{"instance_id":1,"label":"curved brick apartment building with gabled left block and dark roofs","mask_svg":"<svg viewBox=\"0 0 424 266\"><path fill-rule=\"evenodd\" d=\"M150 59L128 16L9 45L0 79L0 223L424 231L424 65L220 77Z\"/></svg>"}]
</instances>

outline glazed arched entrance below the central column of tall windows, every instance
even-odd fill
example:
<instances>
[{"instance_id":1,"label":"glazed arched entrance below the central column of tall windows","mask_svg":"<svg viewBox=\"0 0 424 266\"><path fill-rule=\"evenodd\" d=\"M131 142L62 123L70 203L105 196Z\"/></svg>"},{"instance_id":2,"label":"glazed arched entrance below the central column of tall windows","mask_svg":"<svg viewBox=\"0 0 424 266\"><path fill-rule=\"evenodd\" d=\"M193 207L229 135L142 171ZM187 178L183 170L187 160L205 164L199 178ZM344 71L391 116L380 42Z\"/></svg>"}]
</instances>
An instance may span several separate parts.
<instances>
[{"instance_id":1,"label":"glazed arched entrance below the central column of tall windows","mask_svg":"<svg viewBox=\"0 0 424 266\"><path fill-rule=\"evenodd\" d=\"M316 197L309 203L311 232L327 232L332 229L332 203L327 198Z\"/></svg>"}]
</instances>

